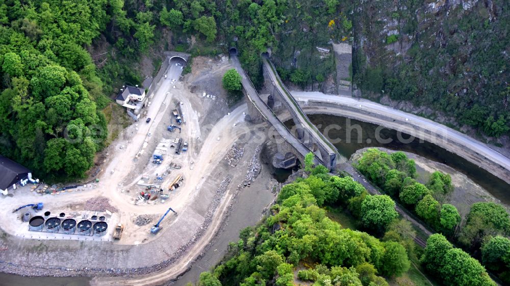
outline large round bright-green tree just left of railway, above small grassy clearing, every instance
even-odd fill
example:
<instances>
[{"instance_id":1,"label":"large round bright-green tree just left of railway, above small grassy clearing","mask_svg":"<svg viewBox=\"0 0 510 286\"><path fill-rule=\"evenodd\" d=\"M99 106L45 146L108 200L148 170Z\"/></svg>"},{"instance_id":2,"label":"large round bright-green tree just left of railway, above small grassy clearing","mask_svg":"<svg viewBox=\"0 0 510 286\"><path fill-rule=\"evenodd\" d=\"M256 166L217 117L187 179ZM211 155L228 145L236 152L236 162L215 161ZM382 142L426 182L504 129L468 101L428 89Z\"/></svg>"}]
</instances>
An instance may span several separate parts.
<instances>
[{"instance_id":1,"label":"large round bright-green tree just left of railway, above small grassy clearing","mask_svg":"<svg viewBox=\"0 0 510 286\"><path fill-rule=\"evenodd\" d=\"M382 231L397 216L395 202L387 195L367 195L361 205L361 220L367 228Z\"/></svg>"}]
</instances>

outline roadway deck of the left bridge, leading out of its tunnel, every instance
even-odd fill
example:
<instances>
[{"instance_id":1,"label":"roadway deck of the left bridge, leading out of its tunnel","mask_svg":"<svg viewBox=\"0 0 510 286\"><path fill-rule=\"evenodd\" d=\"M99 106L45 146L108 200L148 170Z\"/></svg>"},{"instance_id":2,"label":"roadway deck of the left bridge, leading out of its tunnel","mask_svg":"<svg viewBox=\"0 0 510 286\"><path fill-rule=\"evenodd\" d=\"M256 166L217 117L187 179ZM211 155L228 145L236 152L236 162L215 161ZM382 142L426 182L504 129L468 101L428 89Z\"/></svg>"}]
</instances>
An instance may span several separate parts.
<instances>
[{"instance_id":1,"label":"roadway deck of the left bridge, leading out of its tunnel","mask_svg":"<svg viewBox=\"0 0 510 286\"><path fill-rule=\"evenodd\" d=\"M260 98L259 94L253 87L253 84L249 80L249 78L244 73L243 68L241 67L241 63L236 54L231 53L231 61L232 65L236 68L237 72L241 75L241 83L243 84L246 93L248 94L248 98L257 106L257 109L261 112L262 116L269 121L269 123L276 129L278 134L286 139L294 148L301 154L301 156L305 156L310 152L301 141L299 141L286 127L285 125L278 120L276 115L274 115L273 111L266 105L266 103Z\"/></svg>"}]
</instances>

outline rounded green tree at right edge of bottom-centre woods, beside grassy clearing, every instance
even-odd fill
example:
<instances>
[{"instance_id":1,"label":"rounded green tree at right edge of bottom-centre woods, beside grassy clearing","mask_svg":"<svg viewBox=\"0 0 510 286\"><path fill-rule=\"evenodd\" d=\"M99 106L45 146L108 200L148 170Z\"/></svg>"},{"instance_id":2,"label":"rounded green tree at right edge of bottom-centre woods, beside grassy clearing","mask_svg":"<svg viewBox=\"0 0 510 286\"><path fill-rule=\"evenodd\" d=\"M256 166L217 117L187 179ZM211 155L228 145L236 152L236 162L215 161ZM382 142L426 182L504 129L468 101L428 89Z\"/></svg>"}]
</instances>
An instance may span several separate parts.
<instances>
[{"instance_id":1,"label":"rounded green tree at right edge of bottom-centre woods, beside grassy clearing","mask_svg":"<svg viewBox=\"0 0 510 286\"><path fill-rule=\"evenodd\" d=\"M411 266L407 258L405 248L398 242L388 241L384 243L386 249L382 260L382 274L386 276L401 276Z\"/></svg>"}]
</instances>

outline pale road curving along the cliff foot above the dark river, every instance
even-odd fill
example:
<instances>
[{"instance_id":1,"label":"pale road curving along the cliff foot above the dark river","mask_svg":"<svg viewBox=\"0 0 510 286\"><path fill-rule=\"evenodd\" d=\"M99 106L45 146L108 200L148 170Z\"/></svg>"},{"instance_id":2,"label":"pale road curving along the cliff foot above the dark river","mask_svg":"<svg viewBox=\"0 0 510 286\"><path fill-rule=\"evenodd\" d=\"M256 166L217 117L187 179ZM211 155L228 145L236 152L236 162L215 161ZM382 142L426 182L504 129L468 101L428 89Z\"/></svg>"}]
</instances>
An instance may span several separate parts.
<instances>
[{"instance_id":1,"label":"pale road curving along the cliff foot above the dark river","mask_svg":"<svg viewBox=\"0 0 510 286\"><path fill-rule=\"evenodd\" d=\"M300 102L328 102L338 105L339 115L400 130L445 148L510 183L510 159L486 144L440 123L365 99L326 95L319 92L291 92ZM326 109L329 109L326 108ZM325 113L328 113L325 111Z\"/></svg>"}]
</instances>

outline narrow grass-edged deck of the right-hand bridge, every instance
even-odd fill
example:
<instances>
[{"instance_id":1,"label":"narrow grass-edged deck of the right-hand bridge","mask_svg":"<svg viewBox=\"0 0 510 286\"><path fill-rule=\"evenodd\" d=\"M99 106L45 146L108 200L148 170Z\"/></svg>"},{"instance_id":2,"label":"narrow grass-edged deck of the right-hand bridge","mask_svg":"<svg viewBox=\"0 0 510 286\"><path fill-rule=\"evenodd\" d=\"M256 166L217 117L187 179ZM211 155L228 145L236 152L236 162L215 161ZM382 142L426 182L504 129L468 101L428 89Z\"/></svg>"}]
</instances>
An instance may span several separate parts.
<instances>
[{"instance_id":1,"label":"narrow grass-edged deck of the right-hand bridge","mask_svg":"<svg viewBox=\"0 0 510 286\"><path fill-rule=\"evenodd\" d=\"M341 160L341 155L338 153L337 149L322 135L322 133L315 127L315 125L308 119L308 117L304 114L304 112L299 107L298 103L289 93L289 91L280 84L282 79L279 78L278 74L274 72L272 64L269 62L266 56L262 56L262 62L268 71L268 74L273 81L274 86L278 89L279 93L282 94L283 98L287 102L287 105L291 108L294 115L299 120L299 125L301 128L308 131L309 134L312 135L315 142L320 144L328 154L336 154L337 160ZM297 124L297 123L296 123ZM343 160L345 161L345 159Z\"/></svg>"}]
</instances>

